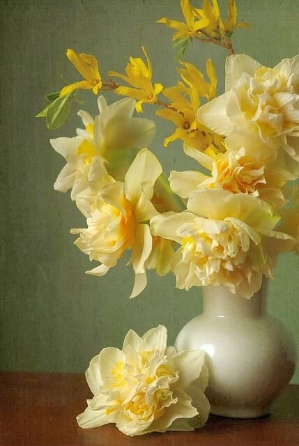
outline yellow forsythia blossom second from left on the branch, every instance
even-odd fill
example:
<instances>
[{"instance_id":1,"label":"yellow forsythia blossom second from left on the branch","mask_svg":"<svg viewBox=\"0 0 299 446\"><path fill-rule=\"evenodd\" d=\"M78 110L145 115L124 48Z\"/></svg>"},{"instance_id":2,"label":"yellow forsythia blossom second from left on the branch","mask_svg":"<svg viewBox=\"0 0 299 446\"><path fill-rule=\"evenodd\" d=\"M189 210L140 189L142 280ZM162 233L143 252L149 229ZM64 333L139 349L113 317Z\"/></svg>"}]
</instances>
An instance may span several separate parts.
<instances>
[{"instance_id":1,"label":"yellow forsythia blossom second from left on the branch","mask_svg":"<svg viewBox=\"0 0 299 446\"><path fill-rule=\"evenodd\" d=\"M146 56L147 66L139 57L130 57L130 62L125 68L127 76L121 75L115 71L109 71L109 76L119 77L130 84L128 86L118 86L115 93L118 95L129 96L138 102L135 105L137 112L142 112L142 104L157 102L157 95L162 91L162 84L152 84L153 70L151 61L146 54L146 50L142 47L142 51Z\"/></svg>"}]
</instances>

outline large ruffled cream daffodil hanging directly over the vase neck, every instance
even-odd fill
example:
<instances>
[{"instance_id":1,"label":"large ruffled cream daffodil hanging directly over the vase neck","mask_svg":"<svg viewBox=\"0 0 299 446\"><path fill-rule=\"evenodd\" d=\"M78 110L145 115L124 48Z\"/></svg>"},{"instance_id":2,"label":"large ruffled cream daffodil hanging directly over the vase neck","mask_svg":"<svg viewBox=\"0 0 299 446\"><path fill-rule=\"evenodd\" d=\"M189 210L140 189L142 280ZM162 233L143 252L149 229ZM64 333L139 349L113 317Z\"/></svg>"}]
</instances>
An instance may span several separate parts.
<instances>
[{"instance_id":1,"label":"large ruffled cream daffodil hanging directly over the vase neck","mask_svg":"<svg viewBox=\"0 0 299 446\"><path fill-rule=\"evenodd\" d=\"M181 245L171 262L179 289L221 285L251 298L263 275L272 277L277 254L293 247L291 236L273 231L278 220L252 195L206 189L190 194L186 212L153 217L151 230Z\"/></svg>"}]
</instances>

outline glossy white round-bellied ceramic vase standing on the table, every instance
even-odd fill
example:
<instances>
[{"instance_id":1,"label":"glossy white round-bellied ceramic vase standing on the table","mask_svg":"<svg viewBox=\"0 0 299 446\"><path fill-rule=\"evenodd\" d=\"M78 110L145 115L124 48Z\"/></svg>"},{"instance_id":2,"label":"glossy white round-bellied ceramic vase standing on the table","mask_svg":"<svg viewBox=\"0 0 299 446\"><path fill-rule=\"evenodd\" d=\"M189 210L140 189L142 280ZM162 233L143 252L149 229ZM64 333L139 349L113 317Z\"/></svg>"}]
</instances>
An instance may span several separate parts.
<instances>
[{"instance_id":1,"label":"glossy white round-bellied ceramic vase standing on the table","mask_svg":"<svg viewBox=\"0 0 299 446\"><path fill-rule=\"evenodd\" d=\"M289 331L266 314L265 295L266 284L250 300L221 286L206 286L204 312L178 334L178 350L206 352L206 396L215 415L266 415L293 376L296 345Z\"/></svg>"}]
</instances>

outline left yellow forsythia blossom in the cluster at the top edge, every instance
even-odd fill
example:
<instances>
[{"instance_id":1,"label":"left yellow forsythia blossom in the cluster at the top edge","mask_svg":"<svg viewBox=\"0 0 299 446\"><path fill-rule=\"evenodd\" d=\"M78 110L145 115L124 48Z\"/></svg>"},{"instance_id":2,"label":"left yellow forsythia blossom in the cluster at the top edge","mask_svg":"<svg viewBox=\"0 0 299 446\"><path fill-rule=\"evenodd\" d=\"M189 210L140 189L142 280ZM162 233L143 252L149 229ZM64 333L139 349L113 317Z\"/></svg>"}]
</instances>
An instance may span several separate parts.
<instances>
[{"instance_id":1,"label":"left yellow forsythia blossom in the cluster at the top edge","mask_svg":"<svg viewBox=\"0 0 299 446\"><path fill-rule=\"evenodd\" d=\"M169 20L166 17L158 20L157 23L163 23L169 28L176 29L176 33L174 33L173 40L184 37L195 37L199 33L199 31L205 28L209 20L207 17L200 18L196 20L196 17L193 13L193 8L190 5L189 0L181 0L181 9L183 16L185 17L185 22L178 22L177 20Z\"/></svg>"}]
</instances>

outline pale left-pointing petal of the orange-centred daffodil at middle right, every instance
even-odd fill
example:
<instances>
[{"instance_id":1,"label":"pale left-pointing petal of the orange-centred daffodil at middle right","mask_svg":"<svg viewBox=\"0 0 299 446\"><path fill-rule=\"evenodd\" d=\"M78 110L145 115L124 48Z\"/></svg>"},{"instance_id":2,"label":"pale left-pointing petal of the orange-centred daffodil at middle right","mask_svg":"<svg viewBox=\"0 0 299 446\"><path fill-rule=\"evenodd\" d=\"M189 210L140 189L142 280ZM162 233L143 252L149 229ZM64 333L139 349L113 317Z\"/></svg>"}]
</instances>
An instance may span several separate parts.
<instances>
[{"instance_id":1,"label":"pale left-pointing petal of the orange-centred daffodil at middle right","mask_svg":"<svg viewBox=\"0 0 299 446\"><path fill-rule=\"evenodd\" d=\"M208 176L201 174L199 171L187 170L178 172L172 170L169 176L169 184L171 189L180 197L187 198L197 186L201 184Z\"/></svg>"}]
</instances>

